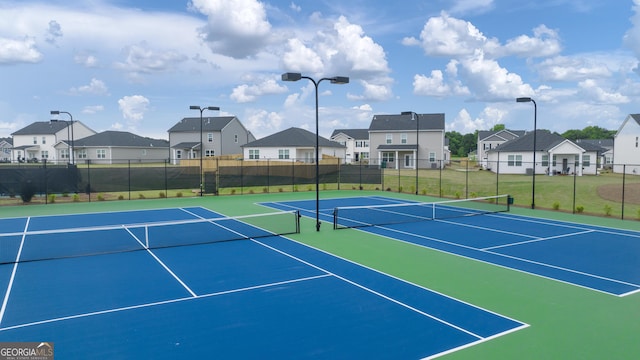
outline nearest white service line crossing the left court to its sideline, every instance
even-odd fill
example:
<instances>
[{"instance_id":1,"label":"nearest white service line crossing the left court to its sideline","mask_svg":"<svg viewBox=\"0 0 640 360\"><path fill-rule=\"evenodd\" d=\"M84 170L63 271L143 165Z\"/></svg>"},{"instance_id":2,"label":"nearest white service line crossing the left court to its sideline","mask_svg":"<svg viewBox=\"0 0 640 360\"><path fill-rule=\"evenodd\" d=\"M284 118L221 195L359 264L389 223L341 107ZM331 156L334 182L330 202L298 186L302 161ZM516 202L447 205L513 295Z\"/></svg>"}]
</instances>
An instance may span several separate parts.
<instances>
[{"instance_id":1,"label":"nearest white service line crossing the left court to its sideline","mask_svg":"<svg viewBox=\"0 0 640 360\"><path fill-rule=\"evenodd\" d=\"M225 290L225 291L220 291L220 292L215 292L215 293L197 295L195 297L192 297L192 296L182 297L182 298L171 299L171 300L156 301L156 302L146 303L146 304L123 306L123 307L119 307L119 308L94 311L94 312L89 312L89 313L85 313L85 314L63 316L63 317L59 317L59 318L53 318L53 319L47 319L47 320L34 321L34 322L30 322L30 323L25 323L25 324L7 326L5 328L0 328L0 332L8 331L8 330L14 330L14 329L20 329L20 328L26 328L26 327L36 326L36 325L42 325L42 324L50 324L50 323L55 323L55 322L60 322L60 321L65 321L65 320L80 319L80 318L91 317L91 316L96 316L96 315L111 314L111 313L117 313L117 312L121 312L121 311L143 309L143 308L148 308L148 307L153 307L153 306L173 304L173 303L178 303L178 302L183 302L183 301L191 301L191 300L196 300L196 299L209 298L209 297L214 297L214 296L238 293L238 292L243 292L243 291L250 291L250 290L255 290L255 289L263 289L263 288L268 288L268 287L280 286L280 285L284 285L284 284L291 284L291 283L296 283L296 282L315 280L315 279L324 278L324 277L328 277L328 276L330 276L330 275L324 274L324 275L318 275L318 276L310 276L310 277L306 277L306 278L285 280L285 281L279 281L279 282L270 283L270 284L256 285L256 286L250 286L250 287L245 287L245 288Z\"/></svg>"}]
</instances>

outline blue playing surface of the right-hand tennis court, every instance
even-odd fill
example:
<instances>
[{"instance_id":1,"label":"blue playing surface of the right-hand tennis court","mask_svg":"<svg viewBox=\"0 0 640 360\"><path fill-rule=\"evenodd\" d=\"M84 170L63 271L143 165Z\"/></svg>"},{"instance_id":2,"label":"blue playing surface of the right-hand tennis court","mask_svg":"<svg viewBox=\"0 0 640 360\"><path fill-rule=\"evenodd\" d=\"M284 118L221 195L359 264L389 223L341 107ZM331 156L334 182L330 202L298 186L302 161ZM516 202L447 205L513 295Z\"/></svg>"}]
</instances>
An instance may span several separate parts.
<instances>
[{"instance_id":1,"label":"blue playing surface of the right-hand tennis court","mask_svg":"<svg viewBox=\"0 0 640 360\"><path fill-rule=\"evenodd\" d=\"M331 226L336 207L378 206L401 202L386 197L323 199L320 217ZM299 209L315 217L315 201L263 203L277 209ZM415 208L415 207L414 207ZM428 212L428 210L426 210ZM360 209L358 220L384 223L401 208ZM487 263L524 271L604 293L626 296L640 291L640 232L495 213L482 216L415 221L358 228ZM425 215L425 219L430 215ZM344 231L344 230L336 230Z\"/></svg>"}]
</instances>

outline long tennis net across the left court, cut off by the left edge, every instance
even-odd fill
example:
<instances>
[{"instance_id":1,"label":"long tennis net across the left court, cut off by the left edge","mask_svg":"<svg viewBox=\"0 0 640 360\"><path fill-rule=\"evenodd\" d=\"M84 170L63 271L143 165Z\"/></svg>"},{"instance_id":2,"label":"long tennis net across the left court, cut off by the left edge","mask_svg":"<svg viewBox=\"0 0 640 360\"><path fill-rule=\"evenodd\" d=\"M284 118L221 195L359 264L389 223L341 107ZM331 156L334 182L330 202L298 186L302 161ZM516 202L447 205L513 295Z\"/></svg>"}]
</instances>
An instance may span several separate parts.
<instances>
[{"instance_id":1,"label":"long tennis net across the left court, cut off by the left edge","mask_svg":"<svg viewBox=\"0 0 640 360\"><path fill-rule=\"evenodd\" d=\"M0 234L0 264L256 239L300 232L298 211Z\"/></svg>"}]
</instances>

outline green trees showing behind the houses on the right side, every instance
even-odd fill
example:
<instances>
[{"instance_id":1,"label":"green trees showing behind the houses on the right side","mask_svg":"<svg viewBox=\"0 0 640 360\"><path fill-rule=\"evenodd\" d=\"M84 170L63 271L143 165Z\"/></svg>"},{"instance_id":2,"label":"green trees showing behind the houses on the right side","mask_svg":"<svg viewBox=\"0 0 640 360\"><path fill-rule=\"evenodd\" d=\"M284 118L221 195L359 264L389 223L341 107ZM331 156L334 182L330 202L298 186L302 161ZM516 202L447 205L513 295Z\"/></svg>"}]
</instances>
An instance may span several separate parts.
<instances>
[{"instance_id":1,"label":"green trees showing behind the houses on the right side","mask_svg":"<svg viewBox=\"0 0 640 360\"><path fill-rule=\"evenodd\" d=\"M497 124L490 131L504 130L504 124ZM557 132L554 132L558 134ZM582 130L567 130L562 134L558 134L565 139L576 141L578 139L613 139L615 130L607 130L599 126L587 126ZM470 152L475 151L478 145L478 130L472 134L460 134L457 131L447 131L445 137L449 139L449 150L452 156L467 156Z\"/></svg>"}]
</instances>

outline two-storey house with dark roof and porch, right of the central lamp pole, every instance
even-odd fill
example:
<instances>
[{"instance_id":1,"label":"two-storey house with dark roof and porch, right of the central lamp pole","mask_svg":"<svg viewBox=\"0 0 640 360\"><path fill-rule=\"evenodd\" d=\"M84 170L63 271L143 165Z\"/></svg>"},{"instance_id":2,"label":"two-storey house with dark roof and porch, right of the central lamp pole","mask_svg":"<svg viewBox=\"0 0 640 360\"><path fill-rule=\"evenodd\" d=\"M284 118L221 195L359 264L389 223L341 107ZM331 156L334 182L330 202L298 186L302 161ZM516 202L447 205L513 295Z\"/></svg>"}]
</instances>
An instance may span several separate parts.
<instances>
[{"instance_id":1,"label":"two-storey house with dark roof and porch, right of the central lamp pole","mask_svg":"<svg viewBox=\"0 0 640 360\"><path fill-rule=\"evenodd\" d=\"M444 130L444 114L374 115L369 147L375 156L369 163L393 169L444 167Z\"/></svg>"}]
</instances>

